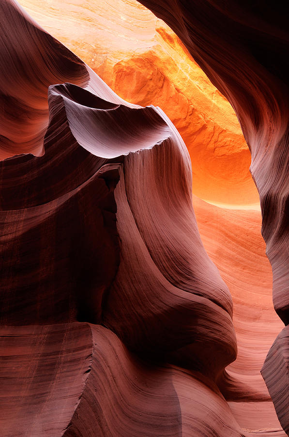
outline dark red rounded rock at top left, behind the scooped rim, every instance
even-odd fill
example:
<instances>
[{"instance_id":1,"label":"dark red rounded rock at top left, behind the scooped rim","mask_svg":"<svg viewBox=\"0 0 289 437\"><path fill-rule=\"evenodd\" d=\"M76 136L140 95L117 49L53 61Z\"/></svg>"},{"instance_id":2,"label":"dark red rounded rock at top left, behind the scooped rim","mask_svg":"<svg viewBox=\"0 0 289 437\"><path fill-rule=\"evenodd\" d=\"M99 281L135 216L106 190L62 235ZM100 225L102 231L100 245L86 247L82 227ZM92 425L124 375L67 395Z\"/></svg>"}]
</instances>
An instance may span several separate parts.
<instances>
[{"instance_id":1,"label":"dark red rounded rock at top left, behind the scooped rim","mask_svg":"<svg viewBox=\"0 0 289 437\"><path fill-rule=\"evenodd\" d=\"M0 158L30 152L41 155L48 124L48 86L66 81L84 86L89 74L82 61L19 6L7 12L3 1L0 14Z\"/></svg>"}]
</instances>

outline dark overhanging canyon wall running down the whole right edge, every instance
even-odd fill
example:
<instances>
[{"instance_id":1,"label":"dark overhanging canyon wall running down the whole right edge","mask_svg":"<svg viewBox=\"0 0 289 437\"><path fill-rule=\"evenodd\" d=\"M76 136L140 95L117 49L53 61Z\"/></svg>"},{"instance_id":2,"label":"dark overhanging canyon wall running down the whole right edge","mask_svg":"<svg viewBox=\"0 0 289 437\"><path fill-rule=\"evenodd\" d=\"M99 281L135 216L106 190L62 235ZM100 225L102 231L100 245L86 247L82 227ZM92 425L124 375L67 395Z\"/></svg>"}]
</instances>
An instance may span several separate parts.
<instances>
[{"instance_id":1,"label":"dark overhanging canyon wall running down the whole right edge","mask_svg":"<svg viewBox=\"0 0 289 437\"><path fill-rule=\"evenodd\" d=\"M288 302L288 6L235 1L141 1L164 19L228 98L252 154L251 172L258 187L262 235L273 269L274 308L287 325ZM273 350L286 342L274 343ZM281 346L280 346L281 347ZM277 415L289 429L282 389L286 373L274 375L274 353L262 374ZM274 383L273 383L274 381ZM274 389L273 389L273 386Z\"/></svg>"}]
</instances>

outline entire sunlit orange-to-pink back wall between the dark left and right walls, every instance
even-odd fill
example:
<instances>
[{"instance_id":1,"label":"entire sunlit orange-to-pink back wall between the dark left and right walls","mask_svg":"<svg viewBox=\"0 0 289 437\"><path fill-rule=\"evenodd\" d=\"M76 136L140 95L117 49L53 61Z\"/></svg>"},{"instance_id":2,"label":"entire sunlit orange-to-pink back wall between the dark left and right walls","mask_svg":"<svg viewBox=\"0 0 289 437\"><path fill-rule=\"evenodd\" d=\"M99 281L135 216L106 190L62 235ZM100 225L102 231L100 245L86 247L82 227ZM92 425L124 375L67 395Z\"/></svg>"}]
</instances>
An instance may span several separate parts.
<instances>
[{"instance_id":1,"label":"entire sunlit orange-to-pink back wall between the dark left and right walls","mask_svg":"<svg viewBox=\"0 0 289 437\"><path fill-rule=\"evenodd\" d=\"M19 3L120 98L160 107L178 129L192 161L201 240L233 300L238 355L221 391L244 432L285 436L260 374L284 324L272 302L251 154L233 108L167 24L135 0ZM40 133L48 124L45 105L43 114ZM30 152L41 154L35 144Z\"/></svg>"}]
</instances>

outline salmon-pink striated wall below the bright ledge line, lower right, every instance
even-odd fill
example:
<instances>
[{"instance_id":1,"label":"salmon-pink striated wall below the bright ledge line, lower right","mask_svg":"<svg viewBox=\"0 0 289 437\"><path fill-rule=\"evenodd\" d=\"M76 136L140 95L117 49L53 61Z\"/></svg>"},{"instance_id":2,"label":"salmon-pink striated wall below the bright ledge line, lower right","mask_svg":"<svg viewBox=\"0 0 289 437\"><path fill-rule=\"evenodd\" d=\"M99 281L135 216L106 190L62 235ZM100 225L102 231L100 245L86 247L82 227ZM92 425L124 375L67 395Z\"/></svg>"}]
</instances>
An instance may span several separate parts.
<instances>
[{"instance_id":1,"label":"salmon-pink striated wall below the bright ledge line, lower right","mask_svg":"<svg viewBox=\"0 0 289 437\"><path fill-rule=\"evenodd\" d=\"M272 303L272 269L260 233L260 213L193 200L202 242L234 305L238 355L219 386L243 429L266 428L274 436L280 424L260 369L283 323Z\"/></svg>"}]
</instances>

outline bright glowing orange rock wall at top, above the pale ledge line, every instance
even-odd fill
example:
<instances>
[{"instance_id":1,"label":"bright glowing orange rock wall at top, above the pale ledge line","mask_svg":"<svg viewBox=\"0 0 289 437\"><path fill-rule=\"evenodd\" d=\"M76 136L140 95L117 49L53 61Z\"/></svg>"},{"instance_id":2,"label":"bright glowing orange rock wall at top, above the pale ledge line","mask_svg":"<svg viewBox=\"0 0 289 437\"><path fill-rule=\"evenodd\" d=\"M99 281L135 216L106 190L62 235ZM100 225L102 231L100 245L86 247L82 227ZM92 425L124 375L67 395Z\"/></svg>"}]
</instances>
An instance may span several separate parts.
<instances>
[{"instance_id":1,"label":"bright glowing orange rock wall at top, above the pale ledge line","mask_svg":"<svg viewBox=\"0 0 289 437\"><path fill-rule=\"evenodd\" d=\"M259 202L231 105L164 21L136 0L20 3L122 99L166 112L189 150L194 194L213 203Z\"/></svg>"}]
</instances>

